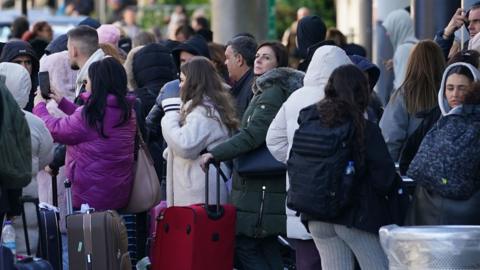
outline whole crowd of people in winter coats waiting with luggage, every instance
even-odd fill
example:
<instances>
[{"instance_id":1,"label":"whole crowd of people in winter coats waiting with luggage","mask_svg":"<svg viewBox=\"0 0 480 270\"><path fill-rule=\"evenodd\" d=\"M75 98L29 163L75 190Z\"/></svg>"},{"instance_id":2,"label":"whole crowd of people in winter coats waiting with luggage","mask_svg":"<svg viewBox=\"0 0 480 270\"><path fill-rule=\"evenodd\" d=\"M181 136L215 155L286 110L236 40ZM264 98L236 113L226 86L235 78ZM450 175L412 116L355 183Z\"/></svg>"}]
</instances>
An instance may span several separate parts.
<instances>
[{"instance_id":1,"label":"whole crowd of people in winter coats waiting with luggage","mask_svg":"<svg viewBox=\"0 0 480 270\"><path fill-rule=\"evenodd\" d=\"M434 40L415 38L406 10L387 16L395 53L386 100L374 91L380 68L365 50L307 8L283 44L249 33L214 43L208 20L190 26L182 9L168 39L157 40L129 23L134 12L126 8L117 24L87 18L55 39L46 22L21 32L21 18L0 47L0 149L26 155L0 165L0 212L18 231L18 253L19 198L51 203L51 175L64 239L63 180L72 182L74 210L124 208L137 136L168 206L217 196L235 206L236 269L283 269L278 236L294 247L296 269L387 269L381 226L480 225L480 2L457 10ZM470 41L452 46L464 24ZM39 71L49 72L48 96ZM248 159L255 173L244 171ZM230 176L218 190L211 162ZM23 174L7 174L8 164ZM395 198L400 175L415 182L407 205ZM12 179L20 184L6 184ZM25 211L35 216L33 206ZM38 224L28 220L35 251Z\"/></svg>"}]
</instances>

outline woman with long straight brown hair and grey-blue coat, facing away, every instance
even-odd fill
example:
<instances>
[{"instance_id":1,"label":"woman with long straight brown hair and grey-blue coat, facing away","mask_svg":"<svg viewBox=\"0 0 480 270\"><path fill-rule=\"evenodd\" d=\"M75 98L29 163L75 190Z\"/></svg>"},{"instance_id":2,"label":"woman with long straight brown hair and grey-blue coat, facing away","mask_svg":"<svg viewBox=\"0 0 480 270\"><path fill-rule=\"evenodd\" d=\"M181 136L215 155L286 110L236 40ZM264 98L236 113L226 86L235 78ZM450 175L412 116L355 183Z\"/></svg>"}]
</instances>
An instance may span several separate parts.
<instances>
[{"instance_id":1,"label":"woman with long straight brown hair and grey-blue coat, facing away","mask_svg":"<svg viewBox=\"0 0 480 270\"><path fill-rule=\"evenodd\" d=\"M383 137L395 162L406 150L409 136L422 123L422 114L437 107L444 68L442 50L435 42L424 40L415 45L408 59L405 80L392 95L380 120Z\"/></svg>"}]
</instances>

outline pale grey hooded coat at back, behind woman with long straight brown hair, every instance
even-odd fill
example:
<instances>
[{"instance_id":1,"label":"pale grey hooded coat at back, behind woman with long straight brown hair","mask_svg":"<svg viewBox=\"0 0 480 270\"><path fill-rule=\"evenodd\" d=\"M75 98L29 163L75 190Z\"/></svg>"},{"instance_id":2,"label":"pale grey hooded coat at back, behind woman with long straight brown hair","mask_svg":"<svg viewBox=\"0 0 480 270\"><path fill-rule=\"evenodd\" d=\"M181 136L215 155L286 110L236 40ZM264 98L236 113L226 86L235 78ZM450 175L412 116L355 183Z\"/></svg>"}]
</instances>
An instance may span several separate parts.
<instances>
[{"instance_id":1,"label":"pale grey hooded coat at back, behind woman with long straight brown hair","mask_svg":"<svg viewBox=\"0 0 480 270\"><path fill-rule=\"evenodd\" d=\"M390 42L393 46L393 88L399 89L405 79L407 64L413 46L418 42L415 38L413 21L407 11L403 9L392 11L383 22Z\"/></svg>"}]
</instances>

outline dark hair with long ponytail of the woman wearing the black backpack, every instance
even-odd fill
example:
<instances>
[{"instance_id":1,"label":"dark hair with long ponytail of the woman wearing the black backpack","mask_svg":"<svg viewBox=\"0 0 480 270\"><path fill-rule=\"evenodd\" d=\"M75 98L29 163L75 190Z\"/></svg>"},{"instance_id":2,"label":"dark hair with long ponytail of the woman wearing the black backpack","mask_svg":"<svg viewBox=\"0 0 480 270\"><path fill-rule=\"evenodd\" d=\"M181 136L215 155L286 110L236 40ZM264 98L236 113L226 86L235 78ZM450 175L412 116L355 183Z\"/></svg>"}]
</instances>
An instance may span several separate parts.
<instances>
[{"instance_id":1,"label":"dark hair with long ponytail of the woman wearing the black backpack","mask_svg":"<svg viewBox=\"0 0 480 270\"><path fill-rule=\"evenodd\" d=\"M335 127L348 121L353 122L353 154L360 166L364 162L364 112L369 98L365 74L354 65L344 65L333 71L325 86L325 98L317 104L321 122L325 126Z\"/></svg>"}]
</instances>

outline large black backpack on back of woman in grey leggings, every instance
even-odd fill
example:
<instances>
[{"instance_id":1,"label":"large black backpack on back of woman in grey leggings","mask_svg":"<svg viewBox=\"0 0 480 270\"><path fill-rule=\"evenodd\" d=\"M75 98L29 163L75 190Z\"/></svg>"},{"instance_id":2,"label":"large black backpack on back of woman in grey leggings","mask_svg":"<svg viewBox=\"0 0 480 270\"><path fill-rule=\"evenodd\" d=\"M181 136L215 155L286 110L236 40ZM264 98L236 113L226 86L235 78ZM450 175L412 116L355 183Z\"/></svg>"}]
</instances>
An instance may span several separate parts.
<instances>
[{"instance_id":1,"label":"large black backpack on back of woman in grey leggings","mask_svg":"<svg viewBox=\"0 0 480 270\"><path fill-rule=\"evenodd\" d=\"M353 124L322 126L316 105L303 109L293 137L287 171L287 206L312 217L338 217L352 199L354 174L346 174L352 160Z\"/></svg>"}]
</instances>

